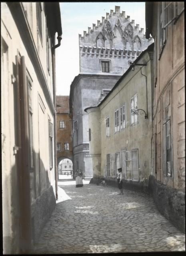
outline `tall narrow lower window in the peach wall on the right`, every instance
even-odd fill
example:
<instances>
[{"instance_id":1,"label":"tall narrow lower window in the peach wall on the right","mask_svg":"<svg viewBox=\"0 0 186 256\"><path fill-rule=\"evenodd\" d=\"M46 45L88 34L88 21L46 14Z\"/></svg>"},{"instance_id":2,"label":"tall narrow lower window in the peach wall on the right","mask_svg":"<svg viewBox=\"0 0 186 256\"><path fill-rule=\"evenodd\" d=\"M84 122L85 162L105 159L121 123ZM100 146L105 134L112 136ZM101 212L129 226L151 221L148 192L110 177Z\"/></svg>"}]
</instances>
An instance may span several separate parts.
<instances>
[{"instance_id":1,"label":"tall narrow lower window in the peach wall on the right","mask_svg":"<svg viewBox=\"0 0 186 256\"><path fill-rule=\"evenodd\" d=\"M171 137L170 137L170 120L164 124L164 174L172 176L171 170Z\"/></svg>"}]
</instances>

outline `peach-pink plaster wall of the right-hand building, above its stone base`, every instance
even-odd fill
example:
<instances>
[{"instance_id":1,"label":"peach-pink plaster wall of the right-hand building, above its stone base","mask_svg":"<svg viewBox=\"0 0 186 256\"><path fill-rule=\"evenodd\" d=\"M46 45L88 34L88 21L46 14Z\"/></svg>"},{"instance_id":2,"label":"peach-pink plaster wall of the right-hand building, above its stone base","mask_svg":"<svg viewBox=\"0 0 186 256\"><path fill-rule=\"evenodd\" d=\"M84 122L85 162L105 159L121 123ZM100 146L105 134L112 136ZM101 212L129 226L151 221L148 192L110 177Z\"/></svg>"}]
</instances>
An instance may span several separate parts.
<instances>
[{"instance_id":1,"label":"peach-pink plaster wall of the right-hand building, above its stone base","mask_svg":"<svg viewBox=\"0 0 186 256\"><path fill-rule=\"evenodd\" d=\"M184 13L176 22L166 28L166 43L160 49L160 4L155 4L156 16L153 19L157 70L157 84L154 89L154 128L157 129L157 158L154 156L155 178L172 188L185 188L185 87L184 87ZM155 31L157 31L155 33ZM160 55L161 53L161 55ZM159 56L159 57L158 57ZM157 61L157 59L159 60ZM166 113L167 112L167 113ZM167 118L165 118L167 115ZM170 119L171 124L171 177L166 176L163 157L163 125ZM155 135L154 130L154 137ZM155 154L155 152L154 152Z\"/></svg>"}]
</instances>

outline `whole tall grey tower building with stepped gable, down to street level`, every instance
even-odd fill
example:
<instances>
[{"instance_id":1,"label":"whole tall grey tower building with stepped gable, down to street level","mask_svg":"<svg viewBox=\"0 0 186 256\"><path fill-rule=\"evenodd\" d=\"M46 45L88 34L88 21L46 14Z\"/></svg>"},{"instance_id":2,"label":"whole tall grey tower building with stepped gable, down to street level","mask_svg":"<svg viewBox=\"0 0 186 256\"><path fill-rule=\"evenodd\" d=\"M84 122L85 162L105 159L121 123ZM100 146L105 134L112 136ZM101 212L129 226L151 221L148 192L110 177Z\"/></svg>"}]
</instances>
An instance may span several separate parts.
<instances>
[{"instance_id":1,"label":"whole tall grey tower building with stepped gable, down to street level","mask_svg":"<svg viewBox=\"0 0 186 256\"><path fill-rule=\"evenodd\" d=\"M73 117L74 171L93 176L89 154L88 115L84 109L101 101L130 64L152 43L143 29L130 21L120 7L110 10L102 22L79 35L80 74L70 86L70 113Z\"/></svg>"}]
</instances>

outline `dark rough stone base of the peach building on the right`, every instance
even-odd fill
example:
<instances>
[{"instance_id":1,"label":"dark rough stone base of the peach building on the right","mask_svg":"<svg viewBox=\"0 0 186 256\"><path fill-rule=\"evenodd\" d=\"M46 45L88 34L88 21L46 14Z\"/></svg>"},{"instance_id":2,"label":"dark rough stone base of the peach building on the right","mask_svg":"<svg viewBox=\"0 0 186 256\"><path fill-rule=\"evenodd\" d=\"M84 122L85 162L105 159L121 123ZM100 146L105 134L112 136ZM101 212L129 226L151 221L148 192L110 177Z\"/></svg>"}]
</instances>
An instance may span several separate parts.
<instances>
[{"instance_id":1,"label":"dark rough stone base of the peach building on the right","mask_svg":"<svg viewBox=\"0 0 186 256\"><path fill-rule=\"evenodd\" d=\"M150 175L149 193L160 213L185 233L185 192L167 187Z\"/></svg>"}]
</instances>

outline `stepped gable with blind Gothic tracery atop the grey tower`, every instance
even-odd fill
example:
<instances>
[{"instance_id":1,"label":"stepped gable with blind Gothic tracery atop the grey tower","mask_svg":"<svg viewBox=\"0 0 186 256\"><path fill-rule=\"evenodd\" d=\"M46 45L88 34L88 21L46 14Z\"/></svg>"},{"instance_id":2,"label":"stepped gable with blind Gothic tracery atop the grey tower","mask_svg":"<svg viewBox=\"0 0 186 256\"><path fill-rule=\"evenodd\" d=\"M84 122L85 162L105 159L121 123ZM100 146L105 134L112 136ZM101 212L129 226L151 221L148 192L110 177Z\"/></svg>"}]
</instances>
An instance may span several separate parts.
<instances>
[{"instance_id":1,"label":"stepped gable with blind Gothic tracery atop the grey tower","mask_svg":"<svg viewBox=\"0 0 186 256\"><path fill-rule=\"evenodd\" d=\"M79 34L80 55L102 57L132 57L139 54L152 43L152 37L145 38L144 29L139 27L125 12L120 13L120 6L115 12L110 10L97 24L88 27L83 35Z\"/></svg>"}]
</instances>

